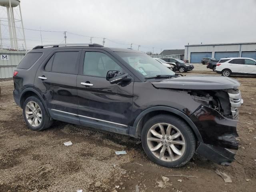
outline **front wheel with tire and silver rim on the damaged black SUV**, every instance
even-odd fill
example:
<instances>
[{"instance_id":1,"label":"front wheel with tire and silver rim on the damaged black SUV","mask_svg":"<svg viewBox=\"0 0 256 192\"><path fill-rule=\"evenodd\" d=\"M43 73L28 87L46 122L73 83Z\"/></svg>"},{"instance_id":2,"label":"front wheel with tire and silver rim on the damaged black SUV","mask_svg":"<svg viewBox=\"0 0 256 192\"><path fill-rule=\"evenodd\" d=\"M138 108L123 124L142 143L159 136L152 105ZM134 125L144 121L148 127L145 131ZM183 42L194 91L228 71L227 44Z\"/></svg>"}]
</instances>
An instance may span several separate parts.
<instances>
[{"instance_id":1,"label":"front wheel with tire and silver rim on the damaged black SUV","mask_svg":"<svg viewBox=\"0 0 256 192\"><path fill-rule=\"evenodd\" d=\"M169 131L169 137L165 135L163 139L160 126L158 126L159 124L164 128L165 134L168 130L168 125L172 127L170 129L171 131ZM152 134L152 130L155 130L155 132L153 131L154 134ZM181 134L180 136L177 135L178 131ZM176 137L174 134L178 137L172 140L171 137ZM157 115L150 118L142 128L141 142L150 160L165 167L183 166L192 158L196 149L196 138L191 128L180 118L171 115ZM174 142L179 142L180 144L174 144ZM183 144L181 144L182 142ZM158 148L158 146L161 147ZM177 153L175 153L172 148L174 148L174 151ZM163 156L160 157L160 152L162 151L164 151L164 153L162 153ZM170 154L172 154L172 156Z\"/></svg>"}]
</instances>

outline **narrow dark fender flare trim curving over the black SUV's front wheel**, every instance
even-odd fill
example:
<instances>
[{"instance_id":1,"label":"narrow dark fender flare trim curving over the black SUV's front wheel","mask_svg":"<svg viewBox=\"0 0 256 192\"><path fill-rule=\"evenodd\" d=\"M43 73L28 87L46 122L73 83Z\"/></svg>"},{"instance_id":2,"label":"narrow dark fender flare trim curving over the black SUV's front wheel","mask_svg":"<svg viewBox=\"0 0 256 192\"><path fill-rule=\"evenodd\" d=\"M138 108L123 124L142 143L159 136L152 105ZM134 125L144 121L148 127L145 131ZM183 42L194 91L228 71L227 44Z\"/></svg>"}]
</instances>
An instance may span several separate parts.
<instances>
[{"instance_id":1,"label":"narrow dark fender flare trim curving over the black SUV's front wheel","mask_svg":"<svg viewBox=\"0 0 256 192\"><path fill-rule=\"evenodd\" d=\"M183 112L181 112L180 110L171 108L171 107L167 107L167 106L155 106L155 107L150 107L144 111L142 111L137 118L134 121L133 127L136 129L136 133L137 133L137 129L138 129L138 124L140 122L140 120L149 112L152 111L167 111L167 112L171 112L173 114L176 114L177 116L181 117L182 119L185 120L185 122L192 128L192 130L194 131L196 137L198 138L199 142L203 142L202 136L200 134L200 132L198 131L198 128L196 127L196 125L192 122L192 120Z\"/></svg>"}]
</instances>

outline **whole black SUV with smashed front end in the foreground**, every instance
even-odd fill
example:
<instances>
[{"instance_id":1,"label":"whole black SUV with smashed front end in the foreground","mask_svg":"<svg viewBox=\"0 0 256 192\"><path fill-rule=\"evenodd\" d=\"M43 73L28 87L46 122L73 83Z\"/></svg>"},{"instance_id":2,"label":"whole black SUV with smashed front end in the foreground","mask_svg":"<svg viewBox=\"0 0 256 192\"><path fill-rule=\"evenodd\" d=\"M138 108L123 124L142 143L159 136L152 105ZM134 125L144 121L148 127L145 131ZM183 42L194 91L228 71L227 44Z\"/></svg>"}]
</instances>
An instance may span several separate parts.
<instances>
[{"instance_id":1,"label":"whole black SUV with smashed front end in the foreground","mask_svg":"<svg viewBox=\"0 0 256 192\"><path fill-rule=\"evenodd\" d=\"M167 167L194 152L234 160L240 83L223 76L180 76L150 56L98 44L36 46L14 71L14 100L28 127L53 120L139 138Z\"/></svg>"}]
</instances>

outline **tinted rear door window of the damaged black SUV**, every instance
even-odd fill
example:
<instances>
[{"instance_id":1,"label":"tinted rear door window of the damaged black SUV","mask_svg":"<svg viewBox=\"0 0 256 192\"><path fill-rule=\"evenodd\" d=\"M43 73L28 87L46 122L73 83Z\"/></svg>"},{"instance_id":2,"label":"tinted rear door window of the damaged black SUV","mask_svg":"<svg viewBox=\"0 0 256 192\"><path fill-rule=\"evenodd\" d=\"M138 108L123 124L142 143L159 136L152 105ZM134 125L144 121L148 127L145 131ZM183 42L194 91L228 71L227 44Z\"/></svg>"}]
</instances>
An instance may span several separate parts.
<instances>
[{"instance_id":1,"label":"tinted rear door window of the damaged black SUV","mask_svg":"<svg viewBox=\"0 0 256 192\"><path fill-rule=\"evenodd\" d=\"M75 74L77 57L78 51L56 52L52 62L52 72Z\"/></svg>"}]
</instances>

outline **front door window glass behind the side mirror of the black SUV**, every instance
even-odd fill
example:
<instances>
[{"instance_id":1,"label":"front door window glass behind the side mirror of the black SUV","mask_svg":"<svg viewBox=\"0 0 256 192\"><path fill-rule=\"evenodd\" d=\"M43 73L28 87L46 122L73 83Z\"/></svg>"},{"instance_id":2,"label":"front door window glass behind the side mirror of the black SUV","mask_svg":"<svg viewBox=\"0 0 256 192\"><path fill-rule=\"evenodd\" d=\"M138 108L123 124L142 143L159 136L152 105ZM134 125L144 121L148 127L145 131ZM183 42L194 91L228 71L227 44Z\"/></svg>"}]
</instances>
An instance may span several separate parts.
<instances>
[{"instance_id":1,"label":"front door window glass behind the side mirror of the black SUV","mask_svg":"<svg viewBox=\"0 0 256 192\"><path fill-rule=\"evenodd\" d=\"M108 71L122 71L122 68L104 53L85 52L84 75L106 78Z\"/></svg>"}]
</instances>

